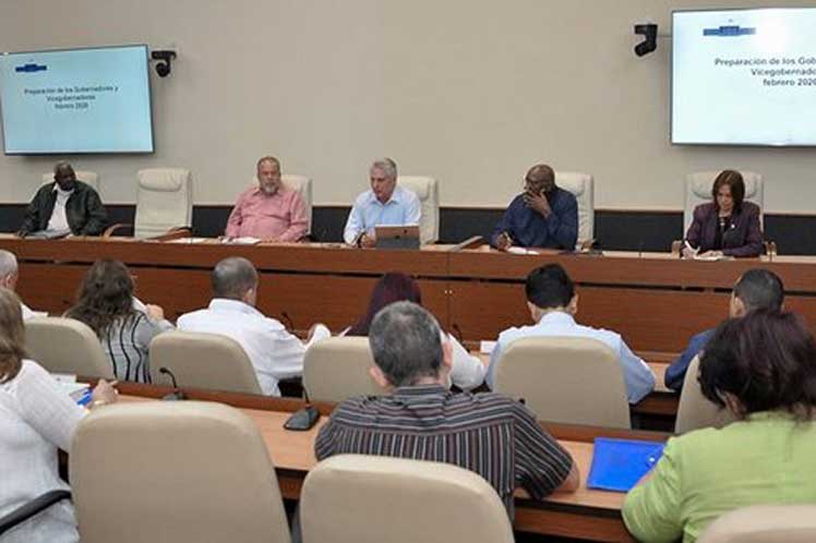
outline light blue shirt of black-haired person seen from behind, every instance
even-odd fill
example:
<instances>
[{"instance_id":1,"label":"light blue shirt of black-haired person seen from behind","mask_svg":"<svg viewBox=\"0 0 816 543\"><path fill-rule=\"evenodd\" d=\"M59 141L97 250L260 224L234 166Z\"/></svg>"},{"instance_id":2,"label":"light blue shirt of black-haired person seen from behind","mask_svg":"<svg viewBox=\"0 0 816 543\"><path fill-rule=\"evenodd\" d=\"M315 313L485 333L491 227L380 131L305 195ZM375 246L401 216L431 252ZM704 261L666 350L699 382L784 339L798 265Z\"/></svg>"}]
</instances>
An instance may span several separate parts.
<instances>
[{"instance_id":1,"label":"light blue shirt of black-haired person seen from behind","mask_svg":"<svg viewBox=\"0 0 816 543\"><path fill-rule=\"evenodd\" d=\"M541 321L533 326L507 328L499 335L496 346L490 355L488 385L491 388L493 388L496 366L502 358L502 352L507 349L511 342L525 337L586 337L598 339L608 345L621 361L623 381L626 384L626 399L629 403L637 403L655 388L655 374L651 369L632 352L620 334L581 326L575 322L571 314L563 311L552 311L544 314Z\"/></svg>"}]
</instances>

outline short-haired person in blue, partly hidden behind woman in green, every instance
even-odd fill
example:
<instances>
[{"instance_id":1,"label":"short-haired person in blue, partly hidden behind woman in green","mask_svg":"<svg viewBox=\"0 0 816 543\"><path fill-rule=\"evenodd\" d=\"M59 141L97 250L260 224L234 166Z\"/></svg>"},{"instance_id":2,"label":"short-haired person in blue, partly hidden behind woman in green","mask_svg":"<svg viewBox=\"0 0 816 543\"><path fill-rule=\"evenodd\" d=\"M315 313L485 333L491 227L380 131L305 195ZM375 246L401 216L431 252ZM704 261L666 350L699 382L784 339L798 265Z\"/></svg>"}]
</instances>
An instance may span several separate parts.
<instances>
[{"instance_id":1,"label":"short-haired person in blue, partly hidden behind woman in green","mask_svg":"<svg viewBox=\"0 0 816 543\"><path fill-rule=\"evenodd\" d=\"M742 317L754 310L781 311L783 303L784 287L777 274L767 269L748 269L740 277L734 285L734 290L731 291L729 317ZM688 364L706 348L713 333L713 328L700 331L688 341L686 350L665 371L667 387L677 391L683 388Z\"/></svg>"}]
</instances>

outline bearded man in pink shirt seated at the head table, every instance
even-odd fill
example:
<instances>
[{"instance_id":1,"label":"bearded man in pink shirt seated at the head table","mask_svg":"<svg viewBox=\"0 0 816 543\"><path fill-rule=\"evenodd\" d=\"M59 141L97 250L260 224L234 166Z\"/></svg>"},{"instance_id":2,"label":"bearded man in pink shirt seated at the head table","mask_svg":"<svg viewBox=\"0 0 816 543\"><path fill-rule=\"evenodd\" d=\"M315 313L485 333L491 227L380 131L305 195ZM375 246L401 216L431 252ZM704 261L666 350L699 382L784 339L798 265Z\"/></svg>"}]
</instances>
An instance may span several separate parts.
<instances>
[{"instance_id":1,"label":"bearded man in pink shirt seated at the head table","mask_svg":"<svg viewBox=\"0 0 816 543\"><path fill-rule=\"evenodd\" d=\"M300 193L280 180L277 158L263 157L256 170L257 186L250 186L238 196L225 236L281 242L300 240L309 225Z\"/></svg>"}]
</instances>

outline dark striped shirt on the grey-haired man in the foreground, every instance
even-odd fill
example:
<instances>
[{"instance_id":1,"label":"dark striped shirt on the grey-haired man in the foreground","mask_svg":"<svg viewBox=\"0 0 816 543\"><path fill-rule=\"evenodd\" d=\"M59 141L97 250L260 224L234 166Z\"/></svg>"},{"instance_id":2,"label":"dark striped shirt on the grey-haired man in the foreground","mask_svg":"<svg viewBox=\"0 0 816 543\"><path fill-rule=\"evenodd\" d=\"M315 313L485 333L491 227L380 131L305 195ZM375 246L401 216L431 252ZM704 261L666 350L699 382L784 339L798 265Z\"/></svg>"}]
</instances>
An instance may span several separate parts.
<instances>
[{"instance_id":1,"label":"dark striped shirt on the grey-haired man in the foreground","mask_svg":"<svg viewBox=\"0 0 816 543\"><path fill-rule=\"evenodd\" d=\"M321 429L314 448L319 460L359 454L459 466L496 490L511 518L516 486L541 499L573 466L521 403L494 393L454 395L441 385L348 399Z\"/></svg>"}]
</instances>

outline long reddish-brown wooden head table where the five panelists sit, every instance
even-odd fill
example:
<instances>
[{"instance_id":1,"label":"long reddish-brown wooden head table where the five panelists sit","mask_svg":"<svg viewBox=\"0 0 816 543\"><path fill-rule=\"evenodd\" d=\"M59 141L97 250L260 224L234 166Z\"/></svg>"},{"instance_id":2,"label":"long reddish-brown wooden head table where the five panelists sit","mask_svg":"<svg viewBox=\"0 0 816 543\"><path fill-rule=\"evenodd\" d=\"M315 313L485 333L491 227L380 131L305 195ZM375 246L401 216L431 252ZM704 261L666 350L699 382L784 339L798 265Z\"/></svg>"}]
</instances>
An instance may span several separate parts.
<instances>
[{"instance_id":1,"label":"long reddish-brown wooden head table where the five panelists sit","mask_svg":"<svg viewBox=\"0 0 816 543\"><path fill-rule=\"evenodd\" d=\"M17 289L26 303L56 314L72 304L91 263L116 258L137 277L139 295L163 305L172 319L208 303L213 266L235 255L250 258L260 270L261 311L297 329L313 322L345 328L365 311L374 281L399 270L418 278L423 304L443 327L466 340L494 339L502 329L529 322L524 278L547 263L562 264L576 281L583 324L620 333L636 351L683 350L691 336L727 315L732 285L757 266L779 274L789 292L785 305L816 324L816 257L809 256L711 263L662 253L515 255L449 245L377 251L338 244L20 240L8 234L0 236L0 248L21 262Z\"/></svg>"}]
</instances>

